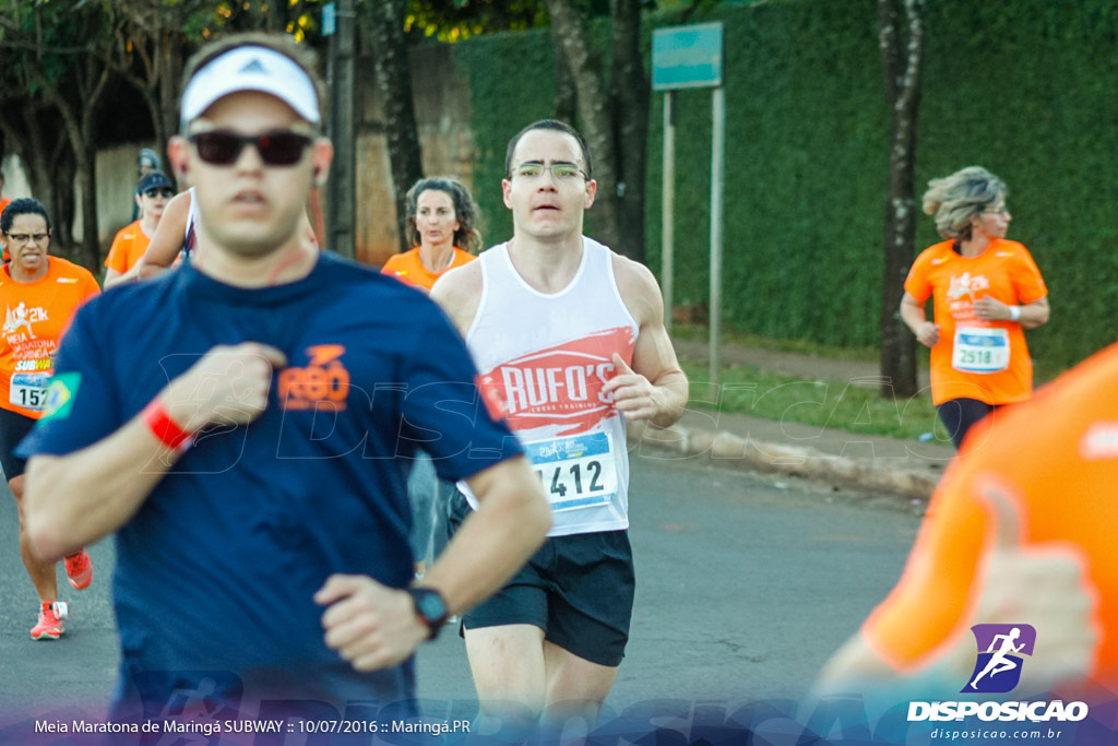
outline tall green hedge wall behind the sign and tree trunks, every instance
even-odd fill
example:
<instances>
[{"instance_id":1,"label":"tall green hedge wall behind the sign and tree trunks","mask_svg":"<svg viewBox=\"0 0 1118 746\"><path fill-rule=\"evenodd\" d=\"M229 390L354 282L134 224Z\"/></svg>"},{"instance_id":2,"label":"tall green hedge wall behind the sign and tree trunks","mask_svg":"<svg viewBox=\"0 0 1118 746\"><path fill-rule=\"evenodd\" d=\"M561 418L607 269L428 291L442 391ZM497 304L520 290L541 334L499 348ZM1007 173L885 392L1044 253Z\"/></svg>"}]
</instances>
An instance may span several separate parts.
<instances>
[{"instance_id":1,"label":"tall green hedge wall behind the sign and tree trunks","mask_svg":"<svg viewBox=\"0 0 1118 746\"><path fill-rule=\"evenodd\" d=\"M776 339L875 347L888 177L875 1L774 0L692 20L724 23L723 318ZM917 197L974 163L1005 179L1010 237L1051 291L1052 321L1030 344L1052 367L1118 338L1116 41L1112 0L931 0L926 18ZM551 114L550 36L480 37L455 54L481 149L476 197L498 240L511 233L498 188L505 143ZM710 98L676 94L678 303L708 299ZM657 273L662 104L653 94L646 225ZM917 251L938 240L930 217L919 225Z\"/></svg>"}]
</instances>

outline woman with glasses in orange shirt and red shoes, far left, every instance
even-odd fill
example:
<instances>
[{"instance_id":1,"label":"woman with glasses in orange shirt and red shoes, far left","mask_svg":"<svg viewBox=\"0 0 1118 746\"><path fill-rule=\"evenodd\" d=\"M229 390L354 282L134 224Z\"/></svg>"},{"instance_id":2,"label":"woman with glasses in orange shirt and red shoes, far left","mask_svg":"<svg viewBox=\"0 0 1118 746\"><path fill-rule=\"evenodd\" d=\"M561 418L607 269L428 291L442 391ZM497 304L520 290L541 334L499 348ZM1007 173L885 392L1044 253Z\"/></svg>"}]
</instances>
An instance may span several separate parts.
<instances>
[{"instance_id":1,"label":"woman with glasses in orange shirt and red shoes, far left","mask_svg":"<svg viewBox=\"0 0 1118 746\"><path fill-rule=\"evenodd\" d=\"M0 267L0 464L19 509L19 554L39 595L35 640L63 634L67 606L58 602L55 564L31 551L23 531L23 469L16 446L49 407L53 355L77 308L101 289L85 267L49 256L50 218L35 199L17 199L0 215L0 245L11 261ZM76 589L88 587L93 563L85 549L66 557L66 576Z\"/></svg>"}]
</instances>

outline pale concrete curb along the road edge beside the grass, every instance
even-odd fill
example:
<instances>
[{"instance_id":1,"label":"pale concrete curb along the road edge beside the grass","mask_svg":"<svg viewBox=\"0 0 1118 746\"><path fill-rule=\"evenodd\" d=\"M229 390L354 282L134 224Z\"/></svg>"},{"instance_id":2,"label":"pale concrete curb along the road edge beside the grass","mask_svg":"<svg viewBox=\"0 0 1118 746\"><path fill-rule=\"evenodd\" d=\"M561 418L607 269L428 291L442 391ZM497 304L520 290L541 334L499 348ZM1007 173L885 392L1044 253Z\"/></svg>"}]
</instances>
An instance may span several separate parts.
<instances>
[{"instance_id":1,"label":"pale concrete curb along the road edge beside the grass","mask_svg":"<svg viewBox=\"0 0 1118 746\"><path fill-rule=\"evenodd\" d=\"M931 497L944 473L938 462L901 459L858 459L825 453L817 448L757 441L727 431L711 431L675 425L667 428L629 423L629 448L634 453L674 454L678 457L705 457L720 466L749 469L767 473L795 474L832 484L894 494L909 500Z\"/></svg>"}]
</instances>

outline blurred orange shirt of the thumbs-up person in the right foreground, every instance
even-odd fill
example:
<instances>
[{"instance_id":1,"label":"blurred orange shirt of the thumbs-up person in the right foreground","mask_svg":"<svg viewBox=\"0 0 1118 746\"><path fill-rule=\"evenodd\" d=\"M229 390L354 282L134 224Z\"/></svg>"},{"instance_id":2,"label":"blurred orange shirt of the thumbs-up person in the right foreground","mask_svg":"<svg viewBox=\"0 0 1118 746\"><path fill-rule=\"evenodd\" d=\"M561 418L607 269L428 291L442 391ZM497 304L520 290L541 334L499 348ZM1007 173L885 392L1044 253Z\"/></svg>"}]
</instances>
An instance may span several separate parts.
<instances>
[{"instance_id":1,"label":"blurred orange shirt of the thumbs-up person in the right foreground","mask_svg":"<svg viewBox=\"0 0 1118 746\"><path fill-rule=\"evenodd\" d=\"M980 493L996 484L1017 506L1022 546L1078 547L1098 589L1102 631L1091 678L1118 681L1116 383L1118 344L975 425L968 455L953 462L932 495L900 582L862 627L885 662L904 671L969 632L973 580L994 529Z\"/></svg>"}]
</instances>

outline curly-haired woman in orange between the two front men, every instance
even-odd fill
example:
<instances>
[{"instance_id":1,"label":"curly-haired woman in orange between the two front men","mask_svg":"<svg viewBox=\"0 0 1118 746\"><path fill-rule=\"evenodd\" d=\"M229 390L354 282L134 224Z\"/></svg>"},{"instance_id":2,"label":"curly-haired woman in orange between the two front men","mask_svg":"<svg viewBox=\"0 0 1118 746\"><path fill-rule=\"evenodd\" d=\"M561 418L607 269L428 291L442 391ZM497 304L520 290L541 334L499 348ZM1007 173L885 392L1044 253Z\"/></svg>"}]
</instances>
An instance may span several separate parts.
<instances>
[{"instance_id":1,"label":"curly-haired woman in orange between the two front men","mask_svg":"<svg viewBox=\"0 0 1118 746\"><path fill-rule=\"evenodd\" d=\"M407 204L408 242L415 248L394 255L380 271L426 293L448 271L477 258L474 254L482 240L474 228L477 206L466 187L453 177L420 179L408 189ZM454 484L439 480L430 459L420 454L411 466L408 495L415 517L411 551L418 576L446 544Z\"/></svg>"}]
</instances>

